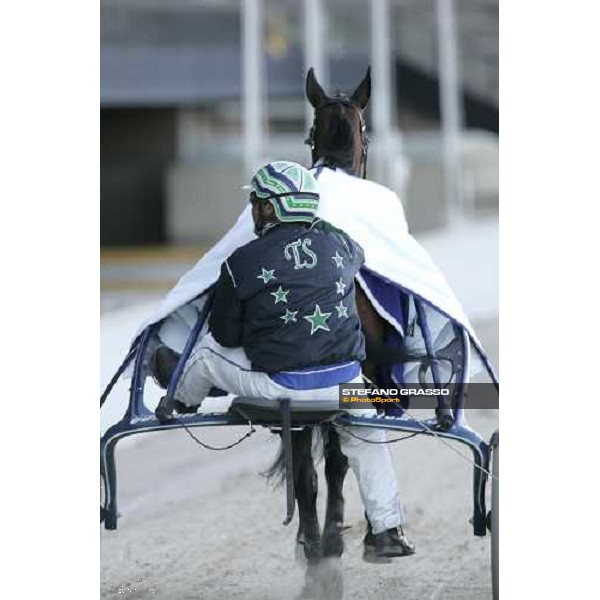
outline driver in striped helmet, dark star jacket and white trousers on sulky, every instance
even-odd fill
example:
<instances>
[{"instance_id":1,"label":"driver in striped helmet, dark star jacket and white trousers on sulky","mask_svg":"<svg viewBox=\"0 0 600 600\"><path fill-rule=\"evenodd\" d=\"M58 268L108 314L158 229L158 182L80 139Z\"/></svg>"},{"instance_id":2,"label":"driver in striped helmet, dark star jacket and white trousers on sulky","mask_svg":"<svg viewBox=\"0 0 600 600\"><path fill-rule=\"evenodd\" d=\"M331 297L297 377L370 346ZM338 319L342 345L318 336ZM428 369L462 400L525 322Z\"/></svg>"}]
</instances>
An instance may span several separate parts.
<instances>
[{"instance_id":1,"label":"driver in striped helmet, dark star jacket and white trousers on sulky","mask_svg":"<svg viewBox=\"0 0 600 600\"><path fill-rule=\"evenodd\" d=\"M315 217L317 183L302 166L268 164L250 188L258 238L222 264L209 332L193 349L175 391L180 412L197 409L213 387L240 396L337 404L338 384L363 382L365 341L354 284L362 248ZM379 429L351 431L370 442L386 440ZM398 531L404 519L388 447L347 430L339 436L373 526L375 555L413 554L414 546Z\"/></svg>"}]
</instances>

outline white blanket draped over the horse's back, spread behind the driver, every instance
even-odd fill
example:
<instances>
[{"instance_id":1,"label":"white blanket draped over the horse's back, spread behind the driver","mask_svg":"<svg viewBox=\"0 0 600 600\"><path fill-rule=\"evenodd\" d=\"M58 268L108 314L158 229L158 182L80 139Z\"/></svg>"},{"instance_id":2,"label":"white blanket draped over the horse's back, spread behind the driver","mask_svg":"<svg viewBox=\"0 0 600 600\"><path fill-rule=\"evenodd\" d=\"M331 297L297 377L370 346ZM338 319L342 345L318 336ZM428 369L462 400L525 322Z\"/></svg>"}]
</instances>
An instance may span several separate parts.
<instances>
[{"instance_id":1,"label":"white blanket draped over the horse's back, spread behind the driver","mask_svg":"<svg viewBox=\"0 0 600 600\"><path fill-rule=\"evenodd\" d=\"M321 194L318 216L346 231L363 247L365 266L421 297L437 309L436 312L465 327L475 346L482 351L446 278L409 233L398 196L388 188L341 170L322 169L318 183ZM248 206L227 234L179 280L154 315L142 324L140 331L206 290L218 279L222 262L254 237ZM378 308L376 303L375 307Z\"/></svg>"}]
</instances>

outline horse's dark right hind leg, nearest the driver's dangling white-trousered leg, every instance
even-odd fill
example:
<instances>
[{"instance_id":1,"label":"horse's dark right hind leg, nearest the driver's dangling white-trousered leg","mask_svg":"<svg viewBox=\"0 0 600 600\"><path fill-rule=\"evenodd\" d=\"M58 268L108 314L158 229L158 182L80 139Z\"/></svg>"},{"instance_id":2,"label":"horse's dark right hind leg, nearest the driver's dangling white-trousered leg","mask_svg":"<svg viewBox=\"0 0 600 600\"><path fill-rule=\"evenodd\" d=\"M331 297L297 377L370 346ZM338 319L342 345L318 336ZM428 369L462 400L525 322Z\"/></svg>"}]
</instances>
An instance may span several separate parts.
<instances>
[{"instance_id":1,"label":"horse's dark right hind leg, nearest the driver's dangling white-trousered leg","mask_svg":"<svg viewBox=\"0 0 600 600\"><path fill-rule=\"evenodd\" d=\"M331 425L323 426L325 479L327 480L327 512L323 528L323 556L341 556L344 552L344 479L348 459L342 454L340 437Z\"/></svg>"}]
</instances>

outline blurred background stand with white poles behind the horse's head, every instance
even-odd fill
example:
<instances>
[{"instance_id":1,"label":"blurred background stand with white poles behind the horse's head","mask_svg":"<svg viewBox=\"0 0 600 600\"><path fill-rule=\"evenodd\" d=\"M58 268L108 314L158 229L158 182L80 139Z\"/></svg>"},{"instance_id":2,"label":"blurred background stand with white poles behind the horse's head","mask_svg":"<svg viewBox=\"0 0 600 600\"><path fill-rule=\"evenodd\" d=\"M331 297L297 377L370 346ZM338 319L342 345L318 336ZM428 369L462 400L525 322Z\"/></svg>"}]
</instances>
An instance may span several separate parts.
<instances>
[{"instance_id":1,"label":"blurred background stand with white poles behind the horse's head","mask_svg":"<svg viewBox=\"0 0 600 600\"><path fill-rule=\"evenodd\" d=\"M471 243L497 238L497 0L102 0L101 28L104 292L162 293L235 221L256 166L309 164L310 66L335 93L371 65L369 178L457 255L438 262L497 277Z\"/></svg>"}]
</instances>

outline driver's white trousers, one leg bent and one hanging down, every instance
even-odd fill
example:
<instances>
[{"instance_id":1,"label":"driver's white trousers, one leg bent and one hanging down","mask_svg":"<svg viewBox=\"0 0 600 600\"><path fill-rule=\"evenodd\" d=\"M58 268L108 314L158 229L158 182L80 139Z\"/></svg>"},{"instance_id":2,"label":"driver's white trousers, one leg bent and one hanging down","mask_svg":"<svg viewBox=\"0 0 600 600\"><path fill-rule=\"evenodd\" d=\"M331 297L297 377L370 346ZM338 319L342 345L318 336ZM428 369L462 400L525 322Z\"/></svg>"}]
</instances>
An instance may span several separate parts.
<instances>
[{"instance_id":1,"label":"driver's white trousers, one leg bent and one hanging down","mask_svg":"<svg viewBox=\"0 0 600 600\"><path fill-rule=\"evenodd\" d=\"M358 377L341 383L362 383ZM196 344L188 359L175 398L188 406L198 406L211 387L218 387L236 396L256 398L290 398L291 400L327 400L337 406L338 386L311 390L286 388L273 381L266 373L252 371L250 361L242 348L225 348L209 333ZM348 413L370 416L375 409L348 409ZM353 434L369 441L387 439L381 429L352 427ZM398 501L396 473L389 448L385 444L367 444L339 429L342 452L348 457L354 471L360 494L374 533L397 527L404 522Z\"/></svg>"}]
</instances>

